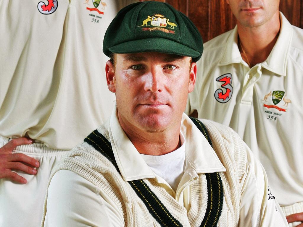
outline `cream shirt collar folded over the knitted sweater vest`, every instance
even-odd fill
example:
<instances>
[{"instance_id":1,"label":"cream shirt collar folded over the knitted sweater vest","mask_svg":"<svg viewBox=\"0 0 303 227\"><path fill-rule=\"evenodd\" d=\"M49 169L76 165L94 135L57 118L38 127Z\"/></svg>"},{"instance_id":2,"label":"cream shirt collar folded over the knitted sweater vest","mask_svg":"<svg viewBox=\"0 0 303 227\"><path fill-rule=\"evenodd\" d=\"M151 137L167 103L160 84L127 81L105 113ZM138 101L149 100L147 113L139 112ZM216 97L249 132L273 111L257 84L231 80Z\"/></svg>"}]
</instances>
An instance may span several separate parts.
<instances>
[{"instance_id":1,"label":"cream shirt collar folded over the knitted sweater vest","mask_svg":"<svg viewBox=\"0 0 303 227\"><path fill-rule=\"evenodd\" d=\"M108 132L115 160L124 180L156 177L120 126L116 108L112 112ZM185 113L182 116L181 132L186 142L185 158L197 173L226 171L203 134Z\"/></svg>"}]
</instances>

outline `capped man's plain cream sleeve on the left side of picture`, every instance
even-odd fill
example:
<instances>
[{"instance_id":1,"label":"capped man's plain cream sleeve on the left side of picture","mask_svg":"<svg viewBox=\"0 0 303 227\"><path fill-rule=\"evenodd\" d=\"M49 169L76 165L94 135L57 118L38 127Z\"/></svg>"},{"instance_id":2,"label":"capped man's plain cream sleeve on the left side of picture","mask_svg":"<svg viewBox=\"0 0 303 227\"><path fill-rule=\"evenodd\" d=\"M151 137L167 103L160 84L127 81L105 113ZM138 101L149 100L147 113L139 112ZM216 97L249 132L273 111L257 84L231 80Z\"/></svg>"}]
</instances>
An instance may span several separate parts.
<instances>
[{"instance_id":1,"label":"capped man's plain cream sleeve on the left side of picture","mask_svg":"<svg viewBox=\"0 0 303 227\"><path fill-rule=\"evenodd\" d=\"M102 191L69 170L59 170L48 187L45 227L123 227L122 214Z\"/></svg>"}]
</instances>

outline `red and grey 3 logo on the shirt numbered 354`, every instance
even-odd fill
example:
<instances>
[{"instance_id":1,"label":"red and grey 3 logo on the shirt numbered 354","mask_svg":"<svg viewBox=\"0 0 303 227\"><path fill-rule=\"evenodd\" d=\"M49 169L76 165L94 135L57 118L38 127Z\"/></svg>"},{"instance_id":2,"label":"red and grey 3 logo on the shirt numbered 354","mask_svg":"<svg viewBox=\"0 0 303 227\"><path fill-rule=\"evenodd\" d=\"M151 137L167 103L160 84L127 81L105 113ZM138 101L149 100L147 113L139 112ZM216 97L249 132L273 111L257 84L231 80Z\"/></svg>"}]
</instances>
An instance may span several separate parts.
<instances>
[{"instance_id":1,"label":"red and grey 3 logo on the shirt numbered 354","mask_svg":"<svg viewBox=\"0 0 303 227\"><path fill-rule=\"evenodd\" d=\"M216 81L223 82L221 85L222 88L225 89L225 92L221 88L217 89L215 91L215 99L219 103L226 103L230 100L233 88L231 86L232 82L232 76L230 73L223 74L222 76L219 76Z\"/></svg>"}]
</instances>

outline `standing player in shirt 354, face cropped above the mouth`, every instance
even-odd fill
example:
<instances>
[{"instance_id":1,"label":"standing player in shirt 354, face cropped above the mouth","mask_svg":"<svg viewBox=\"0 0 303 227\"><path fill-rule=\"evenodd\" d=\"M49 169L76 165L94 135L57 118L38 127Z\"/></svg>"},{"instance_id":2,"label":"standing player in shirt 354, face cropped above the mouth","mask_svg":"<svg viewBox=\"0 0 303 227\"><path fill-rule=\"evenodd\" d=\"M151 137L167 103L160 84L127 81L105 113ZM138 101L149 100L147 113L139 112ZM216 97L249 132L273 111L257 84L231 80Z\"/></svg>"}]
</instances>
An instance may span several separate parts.
<instances>
[{"instance_id":1,"label":"standing player in shirt 354, face cropped above the mouth","mask_svg":"<svg viewBox=\"0 0 303 227\"><path fill-rule=\"evenodd\" d=\"M237 25L205 43L185 112L197 110L199 118L240 135L263 164L289 226L297 226L303 221L303 30L278 11L279 0L227 3Z\"/></svg>"}]
</instances>

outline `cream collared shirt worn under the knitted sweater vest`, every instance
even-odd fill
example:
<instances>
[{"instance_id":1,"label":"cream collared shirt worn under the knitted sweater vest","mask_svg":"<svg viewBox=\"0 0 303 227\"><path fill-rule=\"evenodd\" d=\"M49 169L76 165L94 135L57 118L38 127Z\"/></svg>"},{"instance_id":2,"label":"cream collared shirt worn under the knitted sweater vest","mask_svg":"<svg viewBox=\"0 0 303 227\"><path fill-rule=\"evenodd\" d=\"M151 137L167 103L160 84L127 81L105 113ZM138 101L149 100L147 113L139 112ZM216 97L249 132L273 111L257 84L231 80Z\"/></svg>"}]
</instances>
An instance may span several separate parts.
<instances>
[{"instance_id":1,"label":"cream collared shirt worn under the knitted sweater vest","mask_svg":"<svg viewBox=\"0 0 303 227\"><path fill-rule=\"evenodd\" d=\"M125 181L154 178L179 204L190 209L190 185L200 173L225 172L215 151L194 123L183 114L181 132L185 138L185 169L176 192L156 175L122 130L116 111L108 124L110 142L119 171ZM268 199L267 178L260 163L245 146L248 163L241 180L239 226L286 226L276 200ZM254 169L254 171L251 171ZM240 193L240 192L239 192ZM73 198L77 198L76 201ZM265 209L266 208L266 209ZM279 212L280 211L280 212ZM250 222L247 220L250 219ZM266 223L266 224L264 224ZM282 224L284 223L284 224ZM44 226L125 226L115 203L102 189L69 170L60 170L48 188Z\"/></svg>"}]
</instances>

